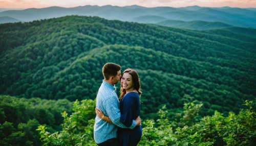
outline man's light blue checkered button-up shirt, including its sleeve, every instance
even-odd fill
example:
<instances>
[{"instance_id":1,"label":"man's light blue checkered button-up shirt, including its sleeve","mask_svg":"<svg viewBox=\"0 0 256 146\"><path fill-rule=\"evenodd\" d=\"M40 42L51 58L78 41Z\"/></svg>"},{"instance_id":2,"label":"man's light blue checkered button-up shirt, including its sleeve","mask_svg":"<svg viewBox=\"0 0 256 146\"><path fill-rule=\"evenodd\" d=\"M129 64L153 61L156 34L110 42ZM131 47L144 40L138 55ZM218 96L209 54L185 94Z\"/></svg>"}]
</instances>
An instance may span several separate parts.
<instances>
[{"instance_id":1,"label":"man's light blue checkered button-up shirt, including its sleeve","mask_svg":"<svg viewBox=\"0 0 256 146\"><path fill-rule=\"evenodd\" d=\"M117 138L117 126L121 128L128 128L124 126L120 121L120 105L116 94L116 87L103 80L97 97L96 107L98 107L104 115L108 116L113 124L100 119L98 116L95 117L94 124L94 140L96 143L104 142L111 138ZM133 124L130 129L136 126L136 121L133 120Z\"/></svg>"}]
</instances>

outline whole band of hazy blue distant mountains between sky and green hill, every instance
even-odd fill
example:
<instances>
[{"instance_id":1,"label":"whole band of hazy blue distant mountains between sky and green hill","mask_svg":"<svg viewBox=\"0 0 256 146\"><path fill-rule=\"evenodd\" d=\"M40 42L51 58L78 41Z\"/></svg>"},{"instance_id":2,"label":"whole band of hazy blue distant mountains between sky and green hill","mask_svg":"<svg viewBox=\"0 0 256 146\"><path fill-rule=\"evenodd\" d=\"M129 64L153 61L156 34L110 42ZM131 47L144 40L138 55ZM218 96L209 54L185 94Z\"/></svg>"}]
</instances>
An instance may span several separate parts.
<instances>
[{"instance_id":1,"label":"whole band of hazy blue distant mountains between sky and green hill","mask_svg":"<svg viewBox=\"0 0 256 146\"><path fill-rule=\"evenodd\" d=\"M33 21L39 19L48 19L61 17L66 15L82 15L82 16L99 16L105 19L115 19L122 21L135 21L143 23L156 23L156 17L164 17L170 20L182 21L208 21L222 22L227 25L256 28L256 12L253 9L240 8L206 8L199 6L172 8L172 7L154 7L146 8L141 6L79 6L74 8L49 7L41 9L26 9L26 10L10 10L0 12L0 16L13 17L22 21ZM141 21L140 17L142 18ZM148 16L154 16L149 18ZM153 21L152 21L153 19ZM163 21L163 20L162 20Z\"/></svg>"}]
</instances>

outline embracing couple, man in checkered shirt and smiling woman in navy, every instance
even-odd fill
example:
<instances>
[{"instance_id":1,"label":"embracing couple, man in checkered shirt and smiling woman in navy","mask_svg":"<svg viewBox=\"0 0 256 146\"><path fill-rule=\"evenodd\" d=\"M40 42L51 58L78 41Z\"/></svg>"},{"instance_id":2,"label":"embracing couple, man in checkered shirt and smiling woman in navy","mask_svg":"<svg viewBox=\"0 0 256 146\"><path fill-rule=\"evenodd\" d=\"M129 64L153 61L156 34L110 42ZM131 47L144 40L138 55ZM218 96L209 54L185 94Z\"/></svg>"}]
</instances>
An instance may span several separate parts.
<instances>
[{"instance_id":1,"label":"embracing couple, man in checkered shirt and smiling woman in navy","mask_svg":"<svg viewBox=\"0 0 256 146\"><path fill-rule=\"evenodd\" d=\"M137 71L106 63L104 80L98 90L94 140L98 145L137 145L142 136L140 114L140 81ZM116 87L120 81L120 97Z\"/></svg>"}]
</instances>

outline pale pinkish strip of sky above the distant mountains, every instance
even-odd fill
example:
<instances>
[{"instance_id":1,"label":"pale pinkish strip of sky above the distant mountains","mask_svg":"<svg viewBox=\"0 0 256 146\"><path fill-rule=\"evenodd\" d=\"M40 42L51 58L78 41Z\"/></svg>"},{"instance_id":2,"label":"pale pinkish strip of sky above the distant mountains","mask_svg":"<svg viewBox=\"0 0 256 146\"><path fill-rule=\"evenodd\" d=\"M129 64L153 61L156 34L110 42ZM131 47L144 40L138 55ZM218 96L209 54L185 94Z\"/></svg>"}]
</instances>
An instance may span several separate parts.
<instances>
[{"instance_id":1,"label":"pale pinkish strip of sky above the distant mountains","mask_svg":"<svg viewBox=\"0 0 256 146\"><path fill-rule=\"evenodd\" d=\"M256 8L256 0L0 0L0 8L46 8L51 6L77 7L85 5L112 5L143 7L238 7Z\"/></svg>"}]
</instances>

